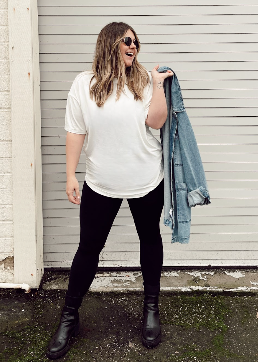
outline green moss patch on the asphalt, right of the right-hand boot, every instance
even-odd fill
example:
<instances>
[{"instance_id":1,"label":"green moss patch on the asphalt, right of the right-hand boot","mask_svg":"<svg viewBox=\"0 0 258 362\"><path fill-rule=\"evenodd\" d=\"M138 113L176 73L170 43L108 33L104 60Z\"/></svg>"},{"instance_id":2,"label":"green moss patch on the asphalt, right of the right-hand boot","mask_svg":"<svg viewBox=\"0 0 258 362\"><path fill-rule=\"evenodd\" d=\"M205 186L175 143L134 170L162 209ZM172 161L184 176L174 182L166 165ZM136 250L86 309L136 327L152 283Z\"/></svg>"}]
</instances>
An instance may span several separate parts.
<instances>
[{"instance_id":1,"label":"green moss patch on the asphalt, right of the right-hand boot","mask_svg":"<svg viewBox=\"0 0 258 362\"><path fill-rule=\"evenodd\" d=\"M182 327L206 328L209 331L218 331L212 338L210 348L198 350L196 344L185 344L178 349L184 351L180 356L171 355L171 362L216 362L221 358L237 358L237 361L245 358L236 353L229 352L224 347L225 333L228 327L225 324L226 317L231 313L226 296L216 296L205 293L203 295L169 296L163 304L162 323L181 325Z\"/></svg>"}]
</instances>

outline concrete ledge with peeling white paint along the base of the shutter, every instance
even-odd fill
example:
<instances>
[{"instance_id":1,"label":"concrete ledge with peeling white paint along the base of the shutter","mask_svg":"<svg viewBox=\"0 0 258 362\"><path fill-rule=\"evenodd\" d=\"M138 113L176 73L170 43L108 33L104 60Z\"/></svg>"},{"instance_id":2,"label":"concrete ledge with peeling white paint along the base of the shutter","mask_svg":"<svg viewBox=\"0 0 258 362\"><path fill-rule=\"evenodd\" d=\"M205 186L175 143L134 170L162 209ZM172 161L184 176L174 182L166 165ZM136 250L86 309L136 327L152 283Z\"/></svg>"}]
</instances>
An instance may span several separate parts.
<instances>
[{"instance_id":1,"label":"concrete ledge with peeling white paint along the base of the shutter","mask_svg":"<svg viewBox=\"0 0 258 362\"><path fill-rule=\"evenodd\" d=\"M45 271L43 289L67 289L69 271ZM142 288L141 271L98 271L91 291L137 291ZM162 271L160 290L258 292L258 269Z\"/></svg>"}]
</instances>

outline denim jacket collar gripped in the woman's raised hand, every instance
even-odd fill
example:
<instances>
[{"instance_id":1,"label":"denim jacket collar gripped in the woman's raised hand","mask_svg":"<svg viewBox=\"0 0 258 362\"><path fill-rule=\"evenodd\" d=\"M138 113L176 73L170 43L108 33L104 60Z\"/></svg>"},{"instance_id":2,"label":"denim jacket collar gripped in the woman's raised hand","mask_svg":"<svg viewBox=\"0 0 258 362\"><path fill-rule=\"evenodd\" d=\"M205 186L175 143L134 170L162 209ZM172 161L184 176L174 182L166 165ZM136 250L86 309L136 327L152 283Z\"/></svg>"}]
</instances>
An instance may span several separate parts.
<instances>
[{"instance_id":1,"label":"denim jacket collar gripped in the woman's raised hand","mask_svg":"<svg viewBox=\"0 0 258 362\"><path fill-rule=\"evenodd\" d=\"M165 66L158 68L159 73L165 73L167 70L172 70L172 69L169 67L165 67ZM184 106L181 88L180 88L176 73L173 70L172 70L172 72L174 73L174 75L172 77L167 77L166 79L164 79L164 86L166 89L166 84L168 81L170 88L171 88L172 110L175 112L182 112L185 110L185 106Z\"/></svg>"}]
</instances>

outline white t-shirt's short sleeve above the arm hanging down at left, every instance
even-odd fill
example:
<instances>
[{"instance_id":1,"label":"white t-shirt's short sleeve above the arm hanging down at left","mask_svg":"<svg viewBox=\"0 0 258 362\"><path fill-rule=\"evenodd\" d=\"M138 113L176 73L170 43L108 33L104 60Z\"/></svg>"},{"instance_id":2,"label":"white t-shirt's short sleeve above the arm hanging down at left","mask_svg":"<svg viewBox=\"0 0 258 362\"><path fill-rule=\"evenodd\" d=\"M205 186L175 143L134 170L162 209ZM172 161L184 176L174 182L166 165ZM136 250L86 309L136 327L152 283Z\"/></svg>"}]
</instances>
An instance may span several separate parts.
<instances>
[{"instance_id":1,"label":"white t-shirt's short sleeve above the arm hanging down at left","mask_svg":"<svg viewBox=\"0 0 258 362\"><path fill-rule=\"evenodd\" d=\"M83 119L81 105L70 92L66 103L64 129L72 133L86 134L86 125Z\"/></svg>"}]
</instances>

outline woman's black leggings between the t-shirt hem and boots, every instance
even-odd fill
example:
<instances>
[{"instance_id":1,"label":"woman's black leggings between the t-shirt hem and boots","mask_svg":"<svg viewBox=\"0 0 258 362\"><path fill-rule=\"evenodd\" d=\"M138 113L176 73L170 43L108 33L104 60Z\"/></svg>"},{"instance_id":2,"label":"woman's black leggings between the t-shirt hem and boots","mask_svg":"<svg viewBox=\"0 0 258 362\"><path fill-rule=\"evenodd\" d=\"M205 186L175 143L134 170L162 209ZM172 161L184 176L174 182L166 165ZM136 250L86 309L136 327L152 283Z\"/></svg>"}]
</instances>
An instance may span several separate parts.
<instances>
[{"instance_id":1,"label":"woman's black leggings between the t-shirt hem and boots","mask_svg":"<svg viewBox=\"0 0 258 362\"><path fill-rule=\"evenodd\" d=\"M98 268L99 254L122 201L122 198L96 193L84 181L80 205L80 241L71 266L68 295L82 297L91 286ZM164 178L147 195L127 201L140 240L143 281L158 285L163 264L159 223L164 206Z\"/></svg>"}]
</instances>

